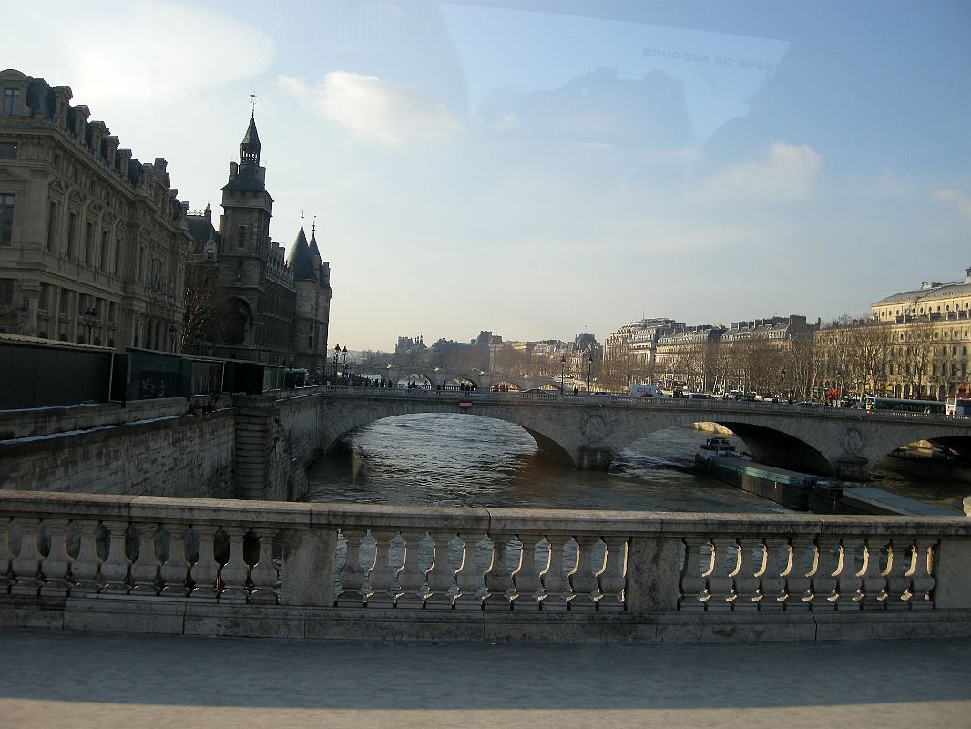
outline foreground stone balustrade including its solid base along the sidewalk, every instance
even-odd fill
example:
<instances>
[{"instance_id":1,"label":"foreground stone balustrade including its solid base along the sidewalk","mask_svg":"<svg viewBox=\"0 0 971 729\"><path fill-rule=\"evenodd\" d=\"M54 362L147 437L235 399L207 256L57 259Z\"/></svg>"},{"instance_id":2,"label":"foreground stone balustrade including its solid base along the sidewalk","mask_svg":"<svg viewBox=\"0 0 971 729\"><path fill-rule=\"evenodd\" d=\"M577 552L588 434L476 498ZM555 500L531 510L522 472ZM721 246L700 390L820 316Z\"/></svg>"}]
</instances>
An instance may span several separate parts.
<instances>
[{"instance_id":1,"label":"foreground stone balustrade including its solid base along the sidewalk","mask_svg":"<svg viewBox=\"0 0 971 729\"><path fill-rule=\"evenodd\" d=\"M960 517L0 491L0 529L0 625L503 640L971 635L971 521Z\"/></svg>"}]
</instances>

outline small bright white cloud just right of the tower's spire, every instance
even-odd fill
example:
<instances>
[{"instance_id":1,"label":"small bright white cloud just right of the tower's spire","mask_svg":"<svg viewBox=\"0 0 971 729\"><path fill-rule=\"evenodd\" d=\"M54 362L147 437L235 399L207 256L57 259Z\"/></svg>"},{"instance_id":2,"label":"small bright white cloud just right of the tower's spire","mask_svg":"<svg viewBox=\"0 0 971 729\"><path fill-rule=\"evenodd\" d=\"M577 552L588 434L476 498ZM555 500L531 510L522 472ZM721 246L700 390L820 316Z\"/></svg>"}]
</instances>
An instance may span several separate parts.
<instances>
[{"instance_id":1,"label":"small bright white cloud just right of the tower's spire","mask_svg":"<svg viewBox=\"0 0 971 729\"><path fill-rule=\"evenodd\" d=\"M437 97L376 76L332 71L313 86L287 76L278 76L277 84L309 101L324 119L388 145L448 139L462 128Z\"/></svg>"}]
</instances>

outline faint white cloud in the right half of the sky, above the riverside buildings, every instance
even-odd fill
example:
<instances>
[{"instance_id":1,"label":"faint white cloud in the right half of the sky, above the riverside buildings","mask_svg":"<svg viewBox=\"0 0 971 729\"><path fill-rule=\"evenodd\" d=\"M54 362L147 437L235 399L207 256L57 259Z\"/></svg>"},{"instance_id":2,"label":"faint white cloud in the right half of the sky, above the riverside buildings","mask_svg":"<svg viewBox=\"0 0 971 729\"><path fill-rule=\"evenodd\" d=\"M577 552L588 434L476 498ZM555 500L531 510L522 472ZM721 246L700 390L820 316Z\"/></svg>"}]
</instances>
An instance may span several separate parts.
<instances>
[{"instance_id":1,"label":"faint white cloud in the right half of the sky, above the riverside buildings","mask_svg":"<svg viewBox=\"0 0 971 729\"><path fill-rule=\"evenodd\" d=\"M719 199L793 200L813 190L821 167L822 157L808 145L774 142L764 158L730 164L706 187Z\"/></svg>"}]
</instances>

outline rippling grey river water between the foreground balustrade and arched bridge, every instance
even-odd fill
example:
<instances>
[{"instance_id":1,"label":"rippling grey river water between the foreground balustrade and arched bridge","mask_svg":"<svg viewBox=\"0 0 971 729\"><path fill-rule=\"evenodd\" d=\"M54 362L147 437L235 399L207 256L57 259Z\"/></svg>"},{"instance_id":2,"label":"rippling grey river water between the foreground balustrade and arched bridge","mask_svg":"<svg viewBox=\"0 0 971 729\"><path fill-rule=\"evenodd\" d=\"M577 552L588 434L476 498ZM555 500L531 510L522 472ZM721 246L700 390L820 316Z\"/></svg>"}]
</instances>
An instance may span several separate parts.
<instances>
[{"instance_id":1,"label":"rippling grey river water between the foreground balustrade and arched bridge","mask_svg":"<svg viewBox=\"0 0 971 729\"><path fill-rule=\"evenodd\" d=\"M518 426L468 415L401 415L353 432L308 471L310 500L630 511L784 512L692 471L711 434L673 428L637 441L609 472L541 455ZM741 441L736 447L744 450ZM868 483L960 508L971 484L876 469Z\"/></svg>"}]
</instances>

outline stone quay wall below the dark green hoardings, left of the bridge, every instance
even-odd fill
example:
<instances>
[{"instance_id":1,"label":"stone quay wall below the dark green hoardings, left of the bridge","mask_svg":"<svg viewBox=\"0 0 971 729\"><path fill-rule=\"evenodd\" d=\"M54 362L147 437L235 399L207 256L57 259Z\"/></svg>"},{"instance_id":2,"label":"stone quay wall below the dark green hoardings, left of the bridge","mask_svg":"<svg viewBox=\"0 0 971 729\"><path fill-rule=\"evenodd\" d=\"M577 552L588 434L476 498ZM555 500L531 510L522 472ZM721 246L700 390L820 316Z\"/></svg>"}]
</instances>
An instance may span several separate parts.
<instances>
[{"instance_id":1,"label":"stone quay wall below the dark green hoardings, left of the bridge","mask_svg":"<svg viewBox=\"0 0 971 729\"><path fill-rule=\"evenodd\" d=\"M0 411L0 489L300 500L318 389Z\"/></svg>"}]
</instances>

